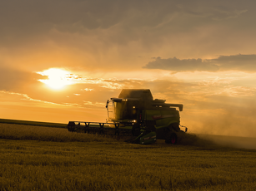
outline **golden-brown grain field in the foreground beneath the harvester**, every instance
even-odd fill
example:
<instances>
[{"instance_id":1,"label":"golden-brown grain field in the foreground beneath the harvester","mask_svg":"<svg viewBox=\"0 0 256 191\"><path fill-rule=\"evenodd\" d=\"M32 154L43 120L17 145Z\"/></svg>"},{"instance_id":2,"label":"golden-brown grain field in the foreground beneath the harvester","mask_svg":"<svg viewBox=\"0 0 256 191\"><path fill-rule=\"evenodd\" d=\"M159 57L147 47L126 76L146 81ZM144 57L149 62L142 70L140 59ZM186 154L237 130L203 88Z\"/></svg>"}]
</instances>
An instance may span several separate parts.
<instances>
[{"instance_id":1,"label":"golden-brown grain field in the foreground beneath the harvester","mask_svg":"<svg viewBox=\"0 0 256 191\"><path fill-rule=\"evenodd\" d=\"M0 124L0 190L255 190L256 150Z\"/></svg>"}]
</instances>

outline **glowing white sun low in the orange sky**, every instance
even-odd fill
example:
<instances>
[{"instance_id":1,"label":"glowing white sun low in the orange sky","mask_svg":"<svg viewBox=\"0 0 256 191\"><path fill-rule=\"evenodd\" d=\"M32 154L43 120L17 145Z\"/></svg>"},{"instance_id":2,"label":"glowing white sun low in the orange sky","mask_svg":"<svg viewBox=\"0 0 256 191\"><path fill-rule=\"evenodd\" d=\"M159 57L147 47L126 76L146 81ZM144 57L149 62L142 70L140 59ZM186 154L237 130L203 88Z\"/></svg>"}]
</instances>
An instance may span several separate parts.
<instances>
[{"instance_id":1,"label":"glowing white sun low in the orange sky","mask_svg":"<svg viewBox=\"0 0 256 191\"><path fill-rule=\"evenodd\" d=\"M54 90L63 89L64 86L73 84L70 79L70 72L63 69L50 68L47 71L38 71L38 74L42 76L48 76L46 80L38 80L49 86Z\"/></svg>"}]
</instances>

